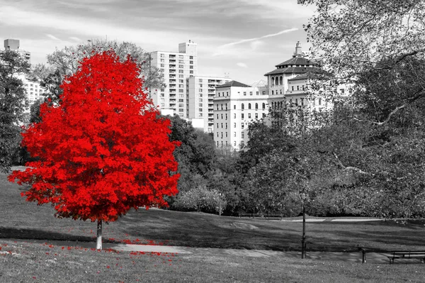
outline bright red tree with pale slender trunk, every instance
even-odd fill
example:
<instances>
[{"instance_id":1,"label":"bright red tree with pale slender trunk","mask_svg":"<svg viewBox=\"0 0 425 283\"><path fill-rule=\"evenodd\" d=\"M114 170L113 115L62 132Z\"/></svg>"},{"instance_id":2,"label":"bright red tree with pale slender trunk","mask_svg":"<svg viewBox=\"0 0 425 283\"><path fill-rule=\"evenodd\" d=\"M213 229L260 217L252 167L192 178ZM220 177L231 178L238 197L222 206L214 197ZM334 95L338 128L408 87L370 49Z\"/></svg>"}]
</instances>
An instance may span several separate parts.
<instances>
[{"instance_id":1,"label":"bright red tree with pale slender trunk","mask_svg":"<svg viewBox=\"0 0 425 283\"><path fill-rule=\"evenodd\" d=\"M115 221L131 208L166 206L179 174L169 141L170 121L159 118L143 91L140 70L113 51L92 54L64 79L59 106L43 104L42 121L23 133L38 161L9 181L31 184L27 201L51 203L57 217Z\"/></svg>"}]
</instances>

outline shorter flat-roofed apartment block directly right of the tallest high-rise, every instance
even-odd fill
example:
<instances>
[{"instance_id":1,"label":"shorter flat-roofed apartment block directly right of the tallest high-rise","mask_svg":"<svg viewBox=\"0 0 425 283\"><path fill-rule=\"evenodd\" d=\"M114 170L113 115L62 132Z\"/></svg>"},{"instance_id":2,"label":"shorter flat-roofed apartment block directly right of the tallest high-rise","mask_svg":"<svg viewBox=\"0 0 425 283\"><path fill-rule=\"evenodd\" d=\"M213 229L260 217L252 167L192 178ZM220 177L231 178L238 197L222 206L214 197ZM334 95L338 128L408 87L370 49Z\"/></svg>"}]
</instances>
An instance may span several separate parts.
<instances>
[{"instance_id":1,"label":"shorter flat-roofed apartment block directly right of the tallest high-rise","mask_svg":"<svg viewBox=\"0 0 425 283\"><path fill-rule=\"evenodd\" d=\"M194 76L186 79L188 118L202 119L205 132L214 131L215 88L229 81L228 77Z\"/></svg>"}]
</instances>

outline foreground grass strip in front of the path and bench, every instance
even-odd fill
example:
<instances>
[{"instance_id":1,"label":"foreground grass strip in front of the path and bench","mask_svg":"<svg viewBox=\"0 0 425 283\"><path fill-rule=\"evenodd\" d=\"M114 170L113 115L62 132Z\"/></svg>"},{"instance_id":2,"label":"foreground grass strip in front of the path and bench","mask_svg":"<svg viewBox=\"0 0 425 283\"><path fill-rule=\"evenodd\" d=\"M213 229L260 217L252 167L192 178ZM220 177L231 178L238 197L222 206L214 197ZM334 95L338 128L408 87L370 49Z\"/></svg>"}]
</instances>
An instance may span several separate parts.
<instances>
[{"instance_id":1,"label":"foreground grass strip in front of the path and bench","mask_svg":"<svg viewBox=\"0 0 425 283\"><path fill-rule=\"evenodd\" d=\"M0 282L423 282L423 265L117 253L0 240Z\"/></svg>"}]
</instances>

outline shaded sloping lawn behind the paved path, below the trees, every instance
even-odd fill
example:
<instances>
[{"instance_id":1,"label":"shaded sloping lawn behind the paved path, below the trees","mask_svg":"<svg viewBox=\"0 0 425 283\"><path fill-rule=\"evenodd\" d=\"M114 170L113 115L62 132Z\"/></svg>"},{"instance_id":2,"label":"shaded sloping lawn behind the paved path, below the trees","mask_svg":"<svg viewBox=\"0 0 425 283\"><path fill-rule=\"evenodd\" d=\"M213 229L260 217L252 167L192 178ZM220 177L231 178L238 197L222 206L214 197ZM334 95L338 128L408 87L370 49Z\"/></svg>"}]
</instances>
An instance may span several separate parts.
<instances>
[{"instance_id":1,"label":"shaded sloping lawn behind the paved path, below the trees","mask_svg":"<svg viewBox=\"0 0 425 283\"><path fill-rule=\"evenodd\" d=\"M96 223L55 218L50 205L37 206L21 197L25 187L0 175L0 238L93 242ZM103 239L113 243L149 243L202 248L300 250L302 223L261 218L220 217L162 209L130 211L104 226ZM424 222L309 222L307 250L424 250Z\"/></svg>"}]
</instances>

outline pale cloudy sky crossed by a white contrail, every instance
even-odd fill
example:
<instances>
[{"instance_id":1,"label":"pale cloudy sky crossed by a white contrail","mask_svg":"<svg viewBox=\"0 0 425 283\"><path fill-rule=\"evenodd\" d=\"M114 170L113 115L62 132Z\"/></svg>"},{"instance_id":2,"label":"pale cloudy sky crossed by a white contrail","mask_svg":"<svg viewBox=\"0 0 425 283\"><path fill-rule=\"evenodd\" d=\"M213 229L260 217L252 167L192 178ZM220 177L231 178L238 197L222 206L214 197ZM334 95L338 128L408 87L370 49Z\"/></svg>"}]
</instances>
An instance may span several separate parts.
<instances>
[{"instance_id":1,"label":"pale cloudy sky crossed by a white contrail","mask_svg":"<svg viewBox=\"0 0 425 283\"><path fill-rule=\"evenodd\" d=\"M147 52L198 44L198 74L252 84L288 60L314 6L297 0L0 0L0 40L20 40L31 63L91 39L128 41Z\"/></svg>"}]
</instances>

